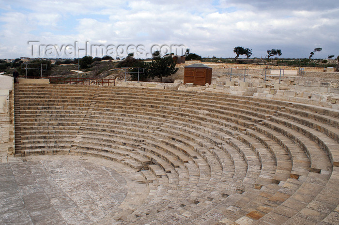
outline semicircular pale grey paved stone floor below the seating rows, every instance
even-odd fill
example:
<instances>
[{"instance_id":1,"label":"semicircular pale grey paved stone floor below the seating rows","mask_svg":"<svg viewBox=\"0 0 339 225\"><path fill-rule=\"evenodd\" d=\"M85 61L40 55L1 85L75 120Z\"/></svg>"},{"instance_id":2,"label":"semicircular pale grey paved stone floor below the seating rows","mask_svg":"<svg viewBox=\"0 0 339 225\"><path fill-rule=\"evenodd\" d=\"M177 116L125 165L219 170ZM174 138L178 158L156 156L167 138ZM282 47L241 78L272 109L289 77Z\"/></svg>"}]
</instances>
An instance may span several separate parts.
<instances>
[{"instance_id":1,"label":"semicircular pale grey paved stone floor below the seating rows","mask_svg":"<svg viewBox=\"0 0 339 225\"><path fill-rule=\"evenodd\" d=\"M129 171L128 171L129 170ZM0 224L119 224L148 187L138 173L87 156L33 156L0 163Z\"/></svg>"}]
</instances>

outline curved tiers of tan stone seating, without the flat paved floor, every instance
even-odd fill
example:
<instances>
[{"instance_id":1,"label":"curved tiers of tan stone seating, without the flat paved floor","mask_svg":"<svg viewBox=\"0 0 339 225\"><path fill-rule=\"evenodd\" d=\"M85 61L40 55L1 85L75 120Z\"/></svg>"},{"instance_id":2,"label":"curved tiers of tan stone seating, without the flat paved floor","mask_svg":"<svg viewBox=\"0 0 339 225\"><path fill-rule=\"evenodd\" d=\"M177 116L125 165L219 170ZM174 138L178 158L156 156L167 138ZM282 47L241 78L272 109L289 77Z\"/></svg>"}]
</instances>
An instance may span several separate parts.
<instances>
[{"instance_id":1,"label":"curved tiers of tan stone seating, without the flat paved floor","mask_svg":"<svg viewBox=\"0 0 339 225\"><path fill-rule=\"evenodd\" d=\"M149 184L122 224L338 224L339 112L178 90L15 85L21 154L114 160Z\"/></svg>"}]
</instances>

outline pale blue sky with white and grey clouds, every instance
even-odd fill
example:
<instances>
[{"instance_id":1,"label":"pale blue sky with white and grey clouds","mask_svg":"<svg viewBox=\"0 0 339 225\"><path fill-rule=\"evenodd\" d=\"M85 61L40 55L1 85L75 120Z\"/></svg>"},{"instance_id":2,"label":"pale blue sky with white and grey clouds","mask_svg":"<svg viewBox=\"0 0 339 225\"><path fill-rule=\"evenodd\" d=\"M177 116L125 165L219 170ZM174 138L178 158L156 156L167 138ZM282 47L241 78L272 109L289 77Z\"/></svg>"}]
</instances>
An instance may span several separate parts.
<instances>
[{"instance_id":1,"label":"pale blue sky with white and grey clouds","mask_svg":"<svg viewBox=\"0 0 339 225\"><path fill-rule=\"evenodd\" d=\"M39 45L40 51L34 48ZM109 46L143 46L146 53L154 45L182 45L202 57L223 58L235 57L236 46L251 48L252 57L258 58L273 48L281 49L284 58L308 58L314 48L322 47L313 58L337 57L339 4L338 0L0 0L0 59L32 57L32 50L35 57L44 53L50 58L77 58L77 48L85 45L102 45L106 51ZM79 54L84 56L85 50Z\"/></svg>"}]
</instances>

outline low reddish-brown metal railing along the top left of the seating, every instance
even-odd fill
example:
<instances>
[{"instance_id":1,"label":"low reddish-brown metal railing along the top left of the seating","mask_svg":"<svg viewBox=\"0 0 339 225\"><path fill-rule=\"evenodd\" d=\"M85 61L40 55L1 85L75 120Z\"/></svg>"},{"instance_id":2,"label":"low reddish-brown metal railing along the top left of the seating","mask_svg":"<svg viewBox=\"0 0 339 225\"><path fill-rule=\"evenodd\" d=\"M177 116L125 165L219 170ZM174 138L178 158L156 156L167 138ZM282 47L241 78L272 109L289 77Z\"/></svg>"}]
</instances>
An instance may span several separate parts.
<instances>
[{"instance_id":1,"label":"low reddish-brown metal railing along the top left of the seating","mask_svg":"<svg viewBox=\"0 0 339 225\"><path fill-rule=\"evenodd\" d=\"M21 78L25 78L22 77ZM77 77L40 77L40 76L31 76L29 78L45 78L49 79L50 84L82 84L82 85L114 85L114 79L105 79L105 78L77 78Z\"/></svg>"}]
</instances>

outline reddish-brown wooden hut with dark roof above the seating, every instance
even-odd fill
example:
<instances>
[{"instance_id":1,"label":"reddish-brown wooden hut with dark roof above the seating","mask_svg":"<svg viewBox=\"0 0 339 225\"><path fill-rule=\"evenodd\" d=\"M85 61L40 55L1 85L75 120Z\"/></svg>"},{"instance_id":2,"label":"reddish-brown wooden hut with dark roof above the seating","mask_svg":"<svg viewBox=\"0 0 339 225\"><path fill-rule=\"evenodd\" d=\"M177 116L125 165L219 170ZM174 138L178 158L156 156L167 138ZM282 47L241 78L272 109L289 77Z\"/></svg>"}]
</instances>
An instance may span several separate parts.
<instances>
[{"instance_id":1,"label":"reddish-brown wooden hut with dark roof above the seating","mask_svg":"<svg viewBox=\"0 0 339 225\"><path fill-rule=\"evenodd\" d=\"M184 84L205 85L212 83L212 68L204 64L197 63L185 66Z\"/></svg>"}]
</instances>

